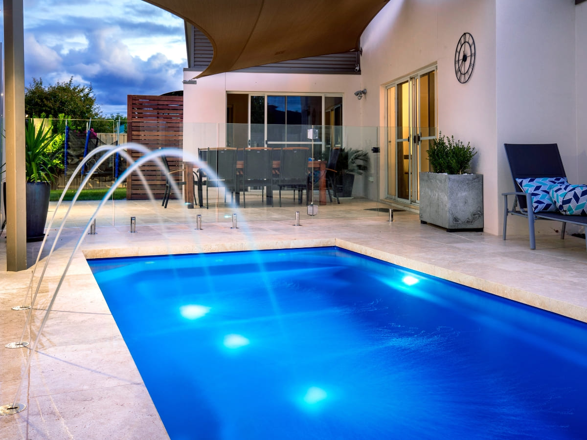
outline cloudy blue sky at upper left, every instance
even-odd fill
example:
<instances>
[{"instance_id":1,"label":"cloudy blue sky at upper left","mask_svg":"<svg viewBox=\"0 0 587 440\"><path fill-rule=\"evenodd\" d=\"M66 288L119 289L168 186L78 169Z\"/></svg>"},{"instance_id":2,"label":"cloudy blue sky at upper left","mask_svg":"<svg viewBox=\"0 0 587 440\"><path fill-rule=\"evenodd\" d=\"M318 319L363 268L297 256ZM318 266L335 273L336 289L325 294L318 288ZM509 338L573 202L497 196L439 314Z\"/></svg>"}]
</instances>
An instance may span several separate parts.
<instances>
[{"instance_id":1,"label":"cloudy blue sky at upper left","mask_svg":"<svg viewBox=\"0 0 587 440\"><path fill-rule=\"evenodd\" d=\"M182 89L183 20L142 0L24 0L24 26L25 86L73 76L106 116L126 114L127 94Z\"/></svg>"}]
</instances>

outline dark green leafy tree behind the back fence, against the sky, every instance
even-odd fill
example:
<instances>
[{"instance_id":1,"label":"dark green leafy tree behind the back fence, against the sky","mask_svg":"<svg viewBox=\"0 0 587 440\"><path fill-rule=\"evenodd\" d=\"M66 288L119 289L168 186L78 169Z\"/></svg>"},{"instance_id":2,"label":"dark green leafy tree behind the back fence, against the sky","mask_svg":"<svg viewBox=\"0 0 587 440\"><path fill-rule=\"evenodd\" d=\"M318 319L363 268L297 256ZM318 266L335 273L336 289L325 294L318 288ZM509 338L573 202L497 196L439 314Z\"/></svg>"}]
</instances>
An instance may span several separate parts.
<instances>
[{"instance_id":1,"label":"dark green leafy tree behind the back fence, against the sky","mask_svg":"<svg viewBox=\"0 0 587 440\"><path fill-rule=\"evenodd\" d=\"M73 84L73 76L68 82L57 82L49 86L45 86L41 78L33 78L32 83L25 88L25 113L29 117L48 118L65 114L68 119L102 116L92 84Z\"/></svg>"}]
</instances>

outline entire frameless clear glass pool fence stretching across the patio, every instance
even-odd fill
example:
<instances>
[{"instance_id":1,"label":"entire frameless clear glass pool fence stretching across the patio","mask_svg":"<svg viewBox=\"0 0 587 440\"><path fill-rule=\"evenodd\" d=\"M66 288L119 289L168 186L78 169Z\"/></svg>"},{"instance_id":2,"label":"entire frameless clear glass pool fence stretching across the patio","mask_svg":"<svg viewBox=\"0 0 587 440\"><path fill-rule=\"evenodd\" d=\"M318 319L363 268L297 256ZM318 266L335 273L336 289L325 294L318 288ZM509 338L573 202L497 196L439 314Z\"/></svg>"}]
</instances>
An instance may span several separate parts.
<instances>
[{"instance_id":1,"label":"entire frameless clear glass pool fence stretching across the patio","mask_svg":"<svg viewBox=\"0 0 587 440\"><path fill-rule=\"evenodd\" d=\"M83 185L84 200L78 204L86 218L65 219L59 213L56 225L65 221L68 226L85 226L92 207L102 199L100 194L116 185L97 216L97 227L129 229L131 217L135 217L136 226L195 225L198 214L204 223L227 224L233 214L245 222L293 221L298 212L301 222L387 218L390 207L401 209L409 204L410 188L417 191L417 172L412 175L414 180L406 173L426 168L427 145L436 134L434 128L423 132L426 139L417 150L410 145L410 137L397 138L407 132L404 127L300 125L296 140L290 141L291 127L285 124L184 124L181 150L163 154L167 168L155 161L138 168L133 164L144 155L140 148L174 147L167 136L159 141L153 141L156 136L150 140L139 137L143 147L133 143L118 153L103 153L106 161L89 176L100 155L77 172L75 167L96 148L126 144L126 127L117 121L108 121L108 125L102 121L100 131L96 131L95 121L52 120L46 124L58 135L56 145L62 161L55 189L63 189L69 178L73 179L72 190ZM282 133L274 137L279 141L271 140L270 128ZM414 154L420 157L411 165ZM121 180L127 169L132 171ZM414 204L417 207L417 201ZM54 211L55 205L53 201L50 209ZM66 209L70 202L63 205L60 209Z\"/></svg>"}]
</instances>

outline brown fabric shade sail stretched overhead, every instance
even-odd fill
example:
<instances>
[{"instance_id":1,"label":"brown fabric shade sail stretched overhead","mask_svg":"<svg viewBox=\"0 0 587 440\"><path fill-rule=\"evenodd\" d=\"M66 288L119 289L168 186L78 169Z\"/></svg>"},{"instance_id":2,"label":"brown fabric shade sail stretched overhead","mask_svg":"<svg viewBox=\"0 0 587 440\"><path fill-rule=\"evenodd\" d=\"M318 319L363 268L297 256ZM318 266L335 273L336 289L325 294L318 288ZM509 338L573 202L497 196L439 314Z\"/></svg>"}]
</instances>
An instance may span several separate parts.
<instances>
[{"instance_id":1,"label":"brown fabric shade sail stretched overhead","mask_svg":"<svg viewBox=\"0 0 587 440\"><path fill-rule=\"evenodd\" d=\"M145 0L200 29L214 48L201 76L359 50L388 0Z\"/></svg>"}]
</instances>

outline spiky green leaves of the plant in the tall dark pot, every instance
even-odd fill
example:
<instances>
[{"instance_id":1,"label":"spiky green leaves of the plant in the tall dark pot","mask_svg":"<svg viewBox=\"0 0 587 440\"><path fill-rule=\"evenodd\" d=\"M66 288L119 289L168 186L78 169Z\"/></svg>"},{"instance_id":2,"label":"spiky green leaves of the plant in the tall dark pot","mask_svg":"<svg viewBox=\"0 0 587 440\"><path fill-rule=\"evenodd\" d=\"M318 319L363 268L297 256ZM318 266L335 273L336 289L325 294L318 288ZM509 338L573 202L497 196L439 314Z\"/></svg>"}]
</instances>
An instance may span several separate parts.
<instances>
[{"instance_id":1,"label":"spiky green leaves of the plant in the tall dark pot","mask_svg":"<svg viewBox=\"0 0 587 440\"><path fill-rule=\"evenodd\" d=\"M57 135L45 129L45 120L35 127L32 120L25 127L25 165L27 182L49 182L54 184L62 168L59 160L60 148L54 141Z\"/></svg>"}]
</instances>

